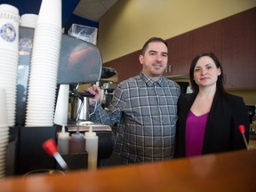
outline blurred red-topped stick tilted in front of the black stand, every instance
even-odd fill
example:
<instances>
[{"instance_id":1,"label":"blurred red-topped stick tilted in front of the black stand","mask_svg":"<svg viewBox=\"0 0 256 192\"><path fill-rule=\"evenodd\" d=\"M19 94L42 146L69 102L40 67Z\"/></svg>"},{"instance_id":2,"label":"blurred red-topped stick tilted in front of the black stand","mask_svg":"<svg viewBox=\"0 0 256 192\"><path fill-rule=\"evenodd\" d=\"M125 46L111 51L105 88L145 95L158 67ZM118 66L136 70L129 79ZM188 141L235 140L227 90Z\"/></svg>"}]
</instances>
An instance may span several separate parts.
<instances>
[{"instance_id":1,"label":"blurred red-topped stick tilted in front of the black stand","mask_svg":"<svg viewBox=\"0 0 256 192\"><path fill-rule=\"evenodd\" d=\"M60 156L60 153L57 151L57 145L55 140L49 139L44 141L43 148L49 156L53 156L55 158L55 160L58 164L60 164L60 167L63 170L68 170L68 164L66 164L62 156Z\"/></svg>"}]
</instances>

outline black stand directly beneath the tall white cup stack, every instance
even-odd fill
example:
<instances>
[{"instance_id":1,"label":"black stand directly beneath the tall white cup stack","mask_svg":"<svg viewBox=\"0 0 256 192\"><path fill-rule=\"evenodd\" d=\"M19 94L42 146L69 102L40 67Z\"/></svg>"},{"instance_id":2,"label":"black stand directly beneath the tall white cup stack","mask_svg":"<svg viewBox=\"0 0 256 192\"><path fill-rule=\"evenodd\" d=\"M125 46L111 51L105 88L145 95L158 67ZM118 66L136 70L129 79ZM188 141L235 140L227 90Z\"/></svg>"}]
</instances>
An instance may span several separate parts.
<instances>
[{"instance_id":1,"label":"black stand directly beneath the tall white cup stack","mask_svg":"<svg viewBox=\"0 0 256 192\"><path fill-rule=\"evenodd\" d=\"M18 128L15 174L25 174L38 169L55 169L56 161L42 147L45 140L56 140L56 128L20 127Z\"/></svg>"}]
</instances>

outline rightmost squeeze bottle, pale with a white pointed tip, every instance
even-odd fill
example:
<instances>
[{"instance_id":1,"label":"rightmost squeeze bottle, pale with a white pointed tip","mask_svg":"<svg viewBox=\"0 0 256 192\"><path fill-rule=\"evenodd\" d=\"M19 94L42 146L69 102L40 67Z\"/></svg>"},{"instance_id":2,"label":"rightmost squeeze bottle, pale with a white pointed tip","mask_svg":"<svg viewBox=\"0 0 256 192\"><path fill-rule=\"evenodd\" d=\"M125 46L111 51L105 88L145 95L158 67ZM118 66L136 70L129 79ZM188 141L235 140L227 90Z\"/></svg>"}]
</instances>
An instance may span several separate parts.
<instances>
[{"instance_id":1,"label":"rightmost squeeze bottle, pale with a white pointed tip","mask_svg":"<svg viewBox=\"0 0 256 192\"><path fill-rule=\"evenodd\" d=\"M92 126L90 126L89 132L85 132L85 150L88 153L88 170L96 170L98 162L98 145L99 138L96 132L92 132Z\"/></svg>"}]
</instances>

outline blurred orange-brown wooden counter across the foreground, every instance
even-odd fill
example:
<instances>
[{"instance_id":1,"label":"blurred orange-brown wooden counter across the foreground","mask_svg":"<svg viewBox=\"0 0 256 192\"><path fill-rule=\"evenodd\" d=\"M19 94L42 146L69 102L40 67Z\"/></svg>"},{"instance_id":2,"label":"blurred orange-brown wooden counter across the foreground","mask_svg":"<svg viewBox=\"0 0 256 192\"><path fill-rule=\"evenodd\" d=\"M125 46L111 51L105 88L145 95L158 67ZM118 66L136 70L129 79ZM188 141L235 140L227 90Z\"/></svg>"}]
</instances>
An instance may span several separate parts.
<instances>
[{"instance_id":1,"label":"blurred orange-brown wooden counter across the foreground","mask_svg":"<svg viewBox=\"0 0 256 192\"><path fill-rule=\"evenodd\" d=\"M63 175L7 177L5 191L256 191L256 150L122 165Z\"/></svg>"}]
</instances>

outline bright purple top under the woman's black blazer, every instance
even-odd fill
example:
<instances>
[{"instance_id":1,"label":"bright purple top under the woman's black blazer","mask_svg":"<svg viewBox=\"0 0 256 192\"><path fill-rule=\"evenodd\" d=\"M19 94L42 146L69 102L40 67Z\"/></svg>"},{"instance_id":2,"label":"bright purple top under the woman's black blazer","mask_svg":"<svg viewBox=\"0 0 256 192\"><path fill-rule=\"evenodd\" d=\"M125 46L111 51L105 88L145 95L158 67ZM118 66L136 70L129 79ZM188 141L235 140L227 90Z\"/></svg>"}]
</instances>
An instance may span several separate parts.
<instances>
[{"instance_id":1,"label":"bright purple top under the woman's black blazer","mask_svg":"<svg viewBox=\"0 0 256 192\"><path fill-rule=\"evenodd\" d=\"M192 111L189 110L185 133L186 156L199 156L202 154L208 114L209 113L203 116L195 116Z\"/></svg>"}]
</instances>

